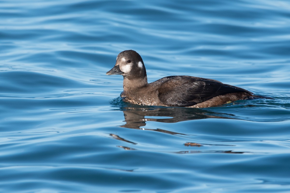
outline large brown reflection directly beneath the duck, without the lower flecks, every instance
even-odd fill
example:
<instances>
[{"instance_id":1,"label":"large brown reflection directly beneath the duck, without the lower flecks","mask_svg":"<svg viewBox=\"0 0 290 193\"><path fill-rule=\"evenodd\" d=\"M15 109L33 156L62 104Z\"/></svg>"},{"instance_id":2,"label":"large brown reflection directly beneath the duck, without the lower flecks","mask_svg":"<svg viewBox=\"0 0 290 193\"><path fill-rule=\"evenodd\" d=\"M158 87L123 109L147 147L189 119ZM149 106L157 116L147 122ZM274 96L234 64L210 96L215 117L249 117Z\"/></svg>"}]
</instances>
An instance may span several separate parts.
<instances>
[{"instance_id":1,"label":"large brown reflection directly beneath the duck, without the lower flecks","mask_svg":"<svg viewBox=\"0 0 290 193\"><path fill-rule=\"evenodd\" d=\"M132 129L140 129L140 127L146 125L146 121L176 123L180 121L205 118L235 119L232 114L215 113L204 109L193 109L186 107L122 107L120 110L124 112L126 122L126 124L121 127ZM170 131L161 132L169 133ZM182 134L174 132L170 133Z\"/></svg>"}]
</instances>

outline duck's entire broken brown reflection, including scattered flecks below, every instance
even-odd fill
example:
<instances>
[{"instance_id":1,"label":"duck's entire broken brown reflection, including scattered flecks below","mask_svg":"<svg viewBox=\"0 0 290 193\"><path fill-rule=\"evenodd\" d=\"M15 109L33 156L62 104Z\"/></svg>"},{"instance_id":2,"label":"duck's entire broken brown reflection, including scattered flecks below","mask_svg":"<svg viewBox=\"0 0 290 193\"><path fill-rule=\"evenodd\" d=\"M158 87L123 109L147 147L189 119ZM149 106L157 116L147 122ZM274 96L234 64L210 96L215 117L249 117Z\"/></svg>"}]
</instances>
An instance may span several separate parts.
<instances>
[{"instance_id":1,"label":"duck's entire broken brown reflection, including scattered flecks below","mask_svg":"<svg viewBox=\"0 0 290 193\"><path fill-rule=\"evenodd\" d=\"M139 107L139 106L126 106L121 107L119 110L123 111L124 113L124 122L126 124L121 125L121 127L131 128L131 129L143 129L143 130L152 130L158 131L162 133L168 133L172 135L179 135L179 136L188 136L184 133L177 133L173 131L168 131L164 129L145 129L147 121L156 121L162 123L176 123L180 121L186 120L197 120L197 119L205 119L205 118L226 118L226 119L238 119L233 114L226 114L226 113L216 113L205 109L193 109L193 108L183 108L183 107ZM121 140L127 142L129 144L137 144L137 142L126 140L116 134L110 134L111 137L117 140ZM221 145L221 144L200 144L195 142L185 142L184 146L232 146L229 144ZM119 148L125 150L136 150L135 148L128 147L128 146L117 146ZM175 151L171 153L244 153L244 152L235 152L232 150L225 150L225 151Z\"/></svg>"}]
</instances>

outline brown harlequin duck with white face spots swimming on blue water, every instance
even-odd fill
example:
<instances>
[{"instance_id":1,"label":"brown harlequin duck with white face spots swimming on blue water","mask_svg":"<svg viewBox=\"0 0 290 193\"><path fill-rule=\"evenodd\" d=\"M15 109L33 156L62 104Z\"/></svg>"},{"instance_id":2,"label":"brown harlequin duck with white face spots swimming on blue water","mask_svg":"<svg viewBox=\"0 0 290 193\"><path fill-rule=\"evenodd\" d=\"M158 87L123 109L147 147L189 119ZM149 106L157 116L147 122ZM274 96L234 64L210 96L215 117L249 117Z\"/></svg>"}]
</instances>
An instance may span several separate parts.
<instances>
[{"instance_id":1,"label":"brown harlequin duck with white face spots swimming on blue water","mask_svg":"<svg viewBox=\"0 0 290 193\"><path fill-rule=\"evenodd\" d=\"M117 74L124 77L122 100L132 104L204 108L263 97L217 80L192 76L168 76L148 84L144 62L134 50L119 53L115 66L106 73Z\"/></svg>"}]
</instances>

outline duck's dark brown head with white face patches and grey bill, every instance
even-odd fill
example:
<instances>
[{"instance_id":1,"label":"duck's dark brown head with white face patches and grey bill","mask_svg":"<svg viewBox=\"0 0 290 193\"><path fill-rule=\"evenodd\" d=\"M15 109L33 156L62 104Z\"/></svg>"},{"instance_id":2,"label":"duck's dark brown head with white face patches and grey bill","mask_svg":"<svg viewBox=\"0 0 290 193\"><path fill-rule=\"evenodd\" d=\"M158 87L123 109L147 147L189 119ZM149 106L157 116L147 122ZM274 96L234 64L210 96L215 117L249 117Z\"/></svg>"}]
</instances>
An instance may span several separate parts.
<instances>
[{"instance_id":1,"label":"duck's dark brown head with white face patches and grey bill","mask_svg":"<svg viewBox=\"0 0 290 193\"><path fill-rule=\"evenodd\" d=\"M125 50L119 53L115 66L106 75L120 74L124 78L146 79L146 69L141 56L134 50Z\"/></svg>"}]
</instances>

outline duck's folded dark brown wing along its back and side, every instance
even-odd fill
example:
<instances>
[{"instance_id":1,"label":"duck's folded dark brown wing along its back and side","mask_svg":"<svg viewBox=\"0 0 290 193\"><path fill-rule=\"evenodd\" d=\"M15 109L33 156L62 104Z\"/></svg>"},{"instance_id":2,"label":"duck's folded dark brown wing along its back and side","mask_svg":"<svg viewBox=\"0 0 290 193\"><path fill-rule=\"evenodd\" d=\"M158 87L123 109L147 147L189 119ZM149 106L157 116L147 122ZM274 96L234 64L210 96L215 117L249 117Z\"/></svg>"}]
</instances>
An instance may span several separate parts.
<instances>
[{"instance_id":1,"label":"duck's folded dark brown wing along its back and side","mask_svg":"<svg viewBox=\"0 0 290 193\"><path fill-rule=\"evenodd\" d=\"M223 94L234 92L251 93L242 88L223 84L213 79L171 76L160 80L162 84L158 89L158 97L161 103L167 106L187 107Z\"/></svg>"}]
</instances>

